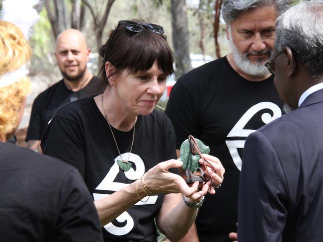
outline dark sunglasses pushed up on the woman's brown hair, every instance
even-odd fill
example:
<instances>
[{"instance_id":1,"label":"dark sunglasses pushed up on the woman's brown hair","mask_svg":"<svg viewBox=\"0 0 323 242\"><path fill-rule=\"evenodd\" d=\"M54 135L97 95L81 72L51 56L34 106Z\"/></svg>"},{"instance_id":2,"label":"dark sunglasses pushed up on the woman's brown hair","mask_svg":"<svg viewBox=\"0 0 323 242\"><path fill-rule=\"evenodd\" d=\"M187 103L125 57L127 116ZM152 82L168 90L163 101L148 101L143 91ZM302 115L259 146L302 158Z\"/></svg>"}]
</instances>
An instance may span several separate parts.
<instances>
[{"instance_id":1,"label":"dark sunglasses pushed up on the woman's brown hair","mask_svg":"<svg viewBox=\"0 0 323 242\"><path fill-rule=\"evenodd\" d=\"M138 23L138 22L134 22L134 21L129 21L129 20L121 20L118 22L117 27L115 28L115 30L113 31L113 34L110 38L110 41L107 43L106 48L105 48L105 53L104 53L104 59L107 61L106 58L106 53L107 50L109 49L109 46L113 40L114 35L116 34L119 26L122 25L123 27L125 27L126 29L128 29L131 32L141 32L143 31L144 27L149 29L150 31L157 33L157 34L163 34L164 33L164 29L161 25L158 24L154 24L154 23Z\"/></svg>"}]
</instances>

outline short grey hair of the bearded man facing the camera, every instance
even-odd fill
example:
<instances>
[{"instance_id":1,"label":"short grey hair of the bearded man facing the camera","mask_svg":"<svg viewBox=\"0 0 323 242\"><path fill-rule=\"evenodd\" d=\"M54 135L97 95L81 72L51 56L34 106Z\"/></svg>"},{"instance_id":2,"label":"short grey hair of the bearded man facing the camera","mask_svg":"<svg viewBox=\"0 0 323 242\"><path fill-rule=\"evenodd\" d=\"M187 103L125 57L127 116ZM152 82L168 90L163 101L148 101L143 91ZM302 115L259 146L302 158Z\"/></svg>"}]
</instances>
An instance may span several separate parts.
<instances>
[{"instance_id":1,"label":"short grey hair of the bearded man facing the camera","mask_svg":"<svg viewBox=\"0 0 323 242\"><path fill-rule=\"evenodd\" d=\"M226 24L230 25L242 12L262 5L274 5L278 16L289 6L288 0L225 0L222 6L222 17Z\"/></svg>"}]
</instances>

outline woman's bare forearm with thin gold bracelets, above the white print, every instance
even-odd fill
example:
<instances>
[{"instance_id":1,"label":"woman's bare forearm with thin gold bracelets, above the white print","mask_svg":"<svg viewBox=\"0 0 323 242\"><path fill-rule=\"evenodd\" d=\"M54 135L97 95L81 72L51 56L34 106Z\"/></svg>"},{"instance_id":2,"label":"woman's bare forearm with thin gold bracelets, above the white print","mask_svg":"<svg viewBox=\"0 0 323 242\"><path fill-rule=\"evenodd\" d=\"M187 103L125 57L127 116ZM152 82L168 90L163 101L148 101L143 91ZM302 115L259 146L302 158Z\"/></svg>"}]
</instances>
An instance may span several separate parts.
<instances>
[{"instance_id":1,"label":"woman's bare forearm with thin gold bracelets, above the white print","mask_svg":"<svg viewBox=\"0 0 323 242\"><path fill-rule=\"evenodd\" d=\"M140 183L139 183L140 184ZM138 195L143 198L145 193L138 187ZM114 192L110 196L94 201L101 226L116 219L124 211L139 201L136 193L136 182Z\"/></svg>"}]
</instances>

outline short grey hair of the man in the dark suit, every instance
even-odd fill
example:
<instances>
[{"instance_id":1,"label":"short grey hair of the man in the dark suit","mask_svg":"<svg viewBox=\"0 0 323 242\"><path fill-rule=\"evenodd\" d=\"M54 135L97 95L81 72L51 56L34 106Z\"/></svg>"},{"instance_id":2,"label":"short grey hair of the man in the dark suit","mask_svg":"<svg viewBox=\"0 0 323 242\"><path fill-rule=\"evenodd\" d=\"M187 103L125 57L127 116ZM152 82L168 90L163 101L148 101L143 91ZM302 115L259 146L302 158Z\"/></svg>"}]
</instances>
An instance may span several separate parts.
<instances>
[{"instance_id":1,"label":"short grey hair of the man in the dark suit","mask_svg":"<svg viewBox=\"0 0 323 242\"><path fill-rule=\"evenodd\" d=\"M275 48L289 47L310 73L323 73L323 1L305 1L288 9L276 23Z\"/></svg>"}]
</instances>

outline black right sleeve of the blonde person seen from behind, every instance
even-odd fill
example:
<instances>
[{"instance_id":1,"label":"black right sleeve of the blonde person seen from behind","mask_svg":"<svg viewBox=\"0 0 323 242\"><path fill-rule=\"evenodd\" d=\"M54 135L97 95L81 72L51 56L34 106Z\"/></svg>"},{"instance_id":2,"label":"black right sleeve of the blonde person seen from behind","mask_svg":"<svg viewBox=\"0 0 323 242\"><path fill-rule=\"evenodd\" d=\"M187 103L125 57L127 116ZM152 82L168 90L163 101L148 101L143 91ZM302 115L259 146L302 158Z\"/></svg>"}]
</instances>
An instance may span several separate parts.
<instances>
[{"instance_id":1,"label":"black right sleeve of the blonde person seen from behind","mask_svg":"<svg viewBox=\"0 0 323 242\"><path fill-rule=\"evenodd\" d=\"M97 212L83 179L73 169L61 187L54 242L102 242Z\"/></svg>"}]
</instances>

